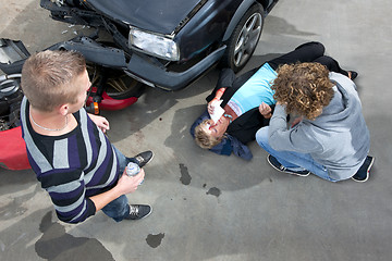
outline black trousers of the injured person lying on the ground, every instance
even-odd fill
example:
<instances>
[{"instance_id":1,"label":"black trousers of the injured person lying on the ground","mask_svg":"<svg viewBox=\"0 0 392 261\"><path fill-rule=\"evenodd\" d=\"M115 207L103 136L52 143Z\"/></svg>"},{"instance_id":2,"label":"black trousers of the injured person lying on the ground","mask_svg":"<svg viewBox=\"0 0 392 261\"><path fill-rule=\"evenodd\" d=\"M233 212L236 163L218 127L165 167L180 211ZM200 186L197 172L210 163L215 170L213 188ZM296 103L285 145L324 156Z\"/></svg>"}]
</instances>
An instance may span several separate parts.
<instances>
[{"instance_id":1,"label":"black trousers of the injured person lying on the ground","mask_svg":"<svg viewBox=\"0 0 392 261\"><path fill-rule=\"evenodd\" d=\"M330 72L335 72L348 76L348 73L339 66L333 58L324 55L326 48L322 44L311 41L298 46L294 51L268 61L268 64L277 71L282 64L293 64L297 62L318 62L327 66Z\"/></svg>"}]
</instances>

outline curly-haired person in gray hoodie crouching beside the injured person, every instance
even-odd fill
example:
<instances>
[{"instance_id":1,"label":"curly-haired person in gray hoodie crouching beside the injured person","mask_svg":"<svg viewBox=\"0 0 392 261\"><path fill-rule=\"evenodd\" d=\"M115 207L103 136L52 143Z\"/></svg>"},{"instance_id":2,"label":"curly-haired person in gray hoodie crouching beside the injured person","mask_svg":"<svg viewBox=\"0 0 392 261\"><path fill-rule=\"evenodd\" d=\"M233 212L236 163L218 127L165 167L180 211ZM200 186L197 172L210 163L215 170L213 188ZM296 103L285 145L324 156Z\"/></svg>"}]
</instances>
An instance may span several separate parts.
<instances>
[{"instance_id":1,"label":"curly-haired person in gray hoodie crouching beside the injured person","mask_svg":"<svg viewBox=\"0 0 392 261\"><path fill-rule=\"evenodd\" d=\"M354 82L319 63L297 63L282 65L271 88L277 107L256 140L275 170L367 181L375 159ZM299 116L289 129L287 113Z\"/></svg>"}]
</instances>

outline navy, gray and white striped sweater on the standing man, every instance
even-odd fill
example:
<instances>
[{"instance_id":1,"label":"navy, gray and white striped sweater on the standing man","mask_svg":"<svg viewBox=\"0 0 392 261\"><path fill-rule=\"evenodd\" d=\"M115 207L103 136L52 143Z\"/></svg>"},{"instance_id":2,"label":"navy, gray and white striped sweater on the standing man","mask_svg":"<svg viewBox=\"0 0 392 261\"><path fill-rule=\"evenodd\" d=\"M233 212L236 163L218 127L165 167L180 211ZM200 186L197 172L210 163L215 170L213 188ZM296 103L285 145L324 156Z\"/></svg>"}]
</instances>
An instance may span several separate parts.
<instances>
[{"instance_id":1,"label":"navy, gray and white striped sweater on the standing man","mask_svg":"<svg viewBox=\"0 0 392 261\"><path fill-rule=\"evenodd\" d=\"M81 109L73 115L77 127L61 136L37 134L28 120L29 105L22 101L22 135L27 157L41 187L49 192L58 217L78 223L94 215L89 197L112 188L120 176L109 139Z\"/></svg>"}]
</instances>

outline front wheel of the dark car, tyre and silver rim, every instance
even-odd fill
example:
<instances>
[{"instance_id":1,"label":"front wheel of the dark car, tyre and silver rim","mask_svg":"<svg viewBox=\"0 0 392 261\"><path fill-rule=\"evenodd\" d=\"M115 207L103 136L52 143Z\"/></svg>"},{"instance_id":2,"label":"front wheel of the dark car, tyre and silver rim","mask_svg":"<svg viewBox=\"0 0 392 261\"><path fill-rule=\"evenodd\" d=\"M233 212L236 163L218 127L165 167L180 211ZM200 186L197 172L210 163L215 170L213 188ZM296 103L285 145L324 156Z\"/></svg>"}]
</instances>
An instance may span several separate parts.
<instances>
[{"instance_id":1,"label":"front wheel of the dark car, tyre and silver rim","mask_svg":"<svg viewBox=\"0 0 392 261\"><path fill-rule=\"evenodd\" d=\"M256 49L262 26L264 12L259 4L254 4L240 20L229 38L228 49L223 54L221 65L231 67L235 73L242 70Z\"/></svg>"}]
</instances>

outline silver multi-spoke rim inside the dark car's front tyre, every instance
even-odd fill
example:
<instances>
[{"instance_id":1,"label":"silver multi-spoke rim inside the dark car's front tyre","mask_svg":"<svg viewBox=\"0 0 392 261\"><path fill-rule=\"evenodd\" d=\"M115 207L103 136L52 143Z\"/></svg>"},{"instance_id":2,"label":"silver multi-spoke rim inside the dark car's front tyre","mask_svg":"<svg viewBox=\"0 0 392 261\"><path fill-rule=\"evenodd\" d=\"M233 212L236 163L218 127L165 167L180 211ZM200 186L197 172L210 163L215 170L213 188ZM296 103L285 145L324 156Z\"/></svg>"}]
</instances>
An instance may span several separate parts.
<instances>
[{"instance_id":1,"label":"silver multi-spoke rim inside the dark car's front tyre","mask_svg":"<svg viewBox=\"0 0 392 261\"><path fill-rule=\"evenodd\" d=\"M260 13L253 14L244 24L235 41L234 65L242 66L249 60L261 34L262 18Z\"/></svg>"}]
</instances>

